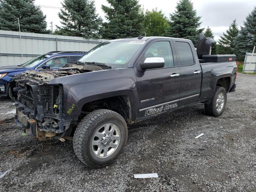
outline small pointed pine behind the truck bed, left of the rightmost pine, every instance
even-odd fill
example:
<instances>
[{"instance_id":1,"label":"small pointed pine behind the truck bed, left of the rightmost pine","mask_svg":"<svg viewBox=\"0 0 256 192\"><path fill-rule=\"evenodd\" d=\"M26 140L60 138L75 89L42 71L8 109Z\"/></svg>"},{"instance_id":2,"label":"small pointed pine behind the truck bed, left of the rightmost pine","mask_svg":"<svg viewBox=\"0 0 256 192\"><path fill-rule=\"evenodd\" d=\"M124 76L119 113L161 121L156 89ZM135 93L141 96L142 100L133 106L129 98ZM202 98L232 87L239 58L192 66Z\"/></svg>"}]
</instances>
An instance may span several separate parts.
<instances>
[{"instance_id":1,"label":"small pointed pine behind the truck bed, left of the rightmost pine","mask_svg":"<svg viewBox=\"0 0 256 192\"><path fill-rule=\"evenodd\" d=\"M219 54L233 54L233 49L235 47L234 40L238 35L239 29L236 24L236 19L231 23L226 33L223 33L223 36L220 37L219 42Z\"/></svg>"}]
</instances>

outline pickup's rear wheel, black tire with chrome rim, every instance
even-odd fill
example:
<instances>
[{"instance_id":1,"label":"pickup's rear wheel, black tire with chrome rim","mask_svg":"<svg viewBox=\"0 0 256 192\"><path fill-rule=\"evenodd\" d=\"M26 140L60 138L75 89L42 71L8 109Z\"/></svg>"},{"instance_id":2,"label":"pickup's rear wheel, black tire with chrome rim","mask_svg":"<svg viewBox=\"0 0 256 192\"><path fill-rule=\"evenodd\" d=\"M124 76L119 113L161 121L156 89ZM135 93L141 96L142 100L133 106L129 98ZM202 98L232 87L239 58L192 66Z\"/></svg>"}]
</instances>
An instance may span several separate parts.
<instances>
[{"instance_id":1,"label":"pickup's rear wheel, black tire with chrome rim","mask_svg":"<svg viewBox=\"0 0 256 192\"><path fill-rule=\"evenodd\" d=\"M204 104L206 114L214 117L220 116L226 107L227 93L224 87L216 86L210 104Z\"/></svg>"}]
</instances>

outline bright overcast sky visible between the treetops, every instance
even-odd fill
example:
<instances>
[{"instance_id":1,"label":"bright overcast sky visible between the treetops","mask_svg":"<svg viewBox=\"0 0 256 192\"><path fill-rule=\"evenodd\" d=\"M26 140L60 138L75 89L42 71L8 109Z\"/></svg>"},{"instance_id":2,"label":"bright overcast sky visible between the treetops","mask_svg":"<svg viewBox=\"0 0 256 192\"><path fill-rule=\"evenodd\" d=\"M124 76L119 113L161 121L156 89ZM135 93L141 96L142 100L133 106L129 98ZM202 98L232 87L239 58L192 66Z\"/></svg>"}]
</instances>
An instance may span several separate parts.
<instances>
[{"instance_id":1,"label":"bright overcast sky visible between the treetops","mask_svg":"<svg viewBox=\"0 0 256 192\"><path fill-rule=\"evenodd\" d=\"M46 14L46 21L48 28L50 22L53 22L53 29L55 25L60 24L58 12L60 11L62 0L35 0L36 5L41 5L42 11ZM152 10L157 8L169 18L169 13L174 12L176 2L178 0L139 0L144 9ZM248 13L250 13L254 6L255 0L192 0L194 8L197 10L198 16L201 16L201 27L206 28L210 26L216 39L228 29L230 23L236 18L238 26L243 25ZM101 5L107 5L106 0L95 0L97 13L104 19ZM52 6L55 8L44 7Z\"/></svg>"}]
</instances>

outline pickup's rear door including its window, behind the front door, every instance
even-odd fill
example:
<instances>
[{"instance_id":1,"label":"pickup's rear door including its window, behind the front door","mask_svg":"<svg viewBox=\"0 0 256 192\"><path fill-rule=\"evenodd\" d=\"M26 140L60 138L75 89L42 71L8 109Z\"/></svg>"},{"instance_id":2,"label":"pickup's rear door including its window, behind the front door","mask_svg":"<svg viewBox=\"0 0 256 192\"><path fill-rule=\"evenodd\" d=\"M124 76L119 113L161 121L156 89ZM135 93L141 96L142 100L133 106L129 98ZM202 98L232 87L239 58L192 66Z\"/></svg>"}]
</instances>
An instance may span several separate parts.
<instances>
[{"instance_id":1,"label":"pickup's rear door including its window, behind the front door","mask_svg":"<svg viewBox=\"0 0 256 192\"><path fill-rule=\"evenodd\" d=\"M192 42L174 40L180 68L180 106L198 101L202 71Z\"/></svg>"}]
</instances>

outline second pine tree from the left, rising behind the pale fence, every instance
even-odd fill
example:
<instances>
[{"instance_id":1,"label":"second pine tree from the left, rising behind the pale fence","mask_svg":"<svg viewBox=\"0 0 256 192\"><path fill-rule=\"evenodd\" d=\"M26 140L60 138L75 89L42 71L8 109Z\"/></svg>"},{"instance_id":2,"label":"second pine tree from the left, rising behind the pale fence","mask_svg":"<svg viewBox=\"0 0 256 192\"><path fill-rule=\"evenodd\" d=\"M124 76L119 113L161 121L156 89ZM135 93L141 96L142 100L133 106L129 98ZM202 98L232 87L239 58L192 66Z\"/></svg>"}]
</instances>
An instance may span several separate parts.
<instances>
[{"instance_id":1,"label":"second pine tree from the left, rising behind the pale fence","mask_svg":"<svg viewBox=\"0 0 256 192\"><path fill-rule=\"evenodd\" d=\"M58 13L61 26L55 34L100 38L102 18L96 14L94 0L64 0Z\"/></svg>"}]
</instances>

